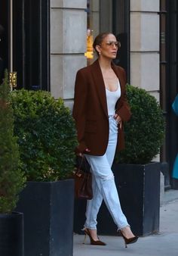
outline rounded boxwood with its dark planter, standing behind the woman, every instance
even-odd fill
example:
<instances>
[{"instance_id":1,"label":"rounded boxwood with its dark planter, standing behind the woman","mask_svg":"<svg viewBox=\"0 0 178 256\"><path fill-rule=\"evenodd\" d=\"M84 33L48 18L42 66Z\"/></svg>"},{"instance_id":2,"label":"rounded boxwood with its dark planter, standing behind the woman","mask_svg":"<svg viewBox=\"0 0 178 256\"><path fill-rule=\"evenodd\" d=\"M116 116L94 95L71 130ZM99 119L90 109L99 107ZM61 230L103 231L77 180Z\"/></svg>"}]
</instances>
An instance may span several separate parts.
<instances>
[{"instance_id":1,"label":"rounded boxwood with its dark planter, standing behind the woman","mask_svg":"<svg viewBox=\"0 0 178 256\"><path fill-rule=\"evenodd\" d=\"M124 123L125 149L116 153L112 170L133 233L146 236L159 229L161 167L152 159L164 139L164 117L155 97L144 89L127 85L127 100L132 117ZM83 201L76 204L75 232L79 233L85 206ZM98 214L98 233L115 236L115 224L104 204Z\"/></svg>"}]
</instances>

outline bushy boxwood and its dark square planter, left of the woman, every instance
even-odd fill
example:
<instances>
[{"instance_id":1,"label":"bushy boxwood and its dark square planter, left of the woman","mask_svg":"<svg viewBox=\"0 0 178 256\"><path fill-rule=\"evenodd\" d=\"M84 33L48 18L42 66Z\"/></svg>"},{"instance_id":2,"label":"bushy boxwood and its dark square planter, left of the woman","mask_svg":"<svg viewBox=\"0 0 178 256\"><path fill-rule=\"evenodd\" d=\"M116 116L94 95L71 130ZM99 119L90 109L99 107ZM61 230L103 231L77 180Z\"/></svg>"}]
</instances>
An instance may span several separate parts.
<instances>
[{"instance_id":1,"label":"bushy boxwood and its dark square planter, left of the woman","mask_svg":"<svg viewBox=\"0 0 178 256\"><path fill-rule=\"evenodd\" d=\"M17 210L24 213L26 256L70 256L73 247L75 125L69 108L49 92L11 94L14 132L27 185Z\"/></svg>"}]
</instances>

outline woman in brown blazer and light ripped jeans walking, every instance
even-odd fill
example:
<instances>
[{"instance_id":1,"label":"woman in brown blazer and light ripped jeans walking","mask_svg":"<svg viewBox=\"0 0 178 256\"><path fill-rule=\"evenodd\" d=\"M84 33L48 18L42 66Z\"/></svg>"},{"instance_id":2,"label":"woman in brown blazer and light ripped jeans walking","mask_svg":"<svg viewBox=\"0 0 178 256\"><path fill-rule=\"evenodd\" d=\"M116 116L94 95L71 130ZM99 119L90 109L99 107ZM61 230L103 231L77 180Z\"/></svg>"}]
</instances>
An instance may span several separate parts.
<instances>
[{"instance_id":1,"label":"woman in brown blazer and light ripped jeans walking","mask_svg":"<svg viewBox=\"0 0 178 256\"><path fill-rule=\"evenodd\" d=\"M93 173L94 198L87 201L84 233L91 245L106 245L97 236L97 213L104 200L125 245L137 242L121 211L111 170L115 149L124 148L123 122L130 118L125 95L123 68L112 64L120 43L112 33L102 33L94 40L98 59L78 70L75 80L73 117L78 133L76 153L84 155Z\"/></svg>"}]
</instances>

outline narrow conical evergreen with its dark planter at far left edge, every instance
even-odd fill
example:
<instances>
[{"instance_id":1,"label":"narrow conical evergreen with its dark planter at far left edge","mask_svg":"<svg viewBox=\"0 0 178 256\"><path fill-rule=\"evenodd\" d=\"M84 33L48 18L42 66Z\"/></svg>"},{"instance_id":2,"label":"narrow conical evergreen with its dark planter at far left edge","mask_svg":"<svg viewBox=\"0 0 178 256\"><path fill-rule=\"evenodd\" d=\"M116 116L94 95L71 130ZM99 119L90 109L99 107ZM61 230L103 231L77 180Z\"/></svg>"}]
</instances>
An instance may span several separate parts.
<instances>
[{"instance_id":1,"label":"narrow conical evergreen with its dark planter at far left edge","mask_svg":"<svg viewBox=\"0 0 178 256\"><path fill-rule=\"evenodd\" d=\"M20 166L8 72L0 86L0 255L23 256L23 214L14 212L25 184Z\"/></svg>"}]
</instances>

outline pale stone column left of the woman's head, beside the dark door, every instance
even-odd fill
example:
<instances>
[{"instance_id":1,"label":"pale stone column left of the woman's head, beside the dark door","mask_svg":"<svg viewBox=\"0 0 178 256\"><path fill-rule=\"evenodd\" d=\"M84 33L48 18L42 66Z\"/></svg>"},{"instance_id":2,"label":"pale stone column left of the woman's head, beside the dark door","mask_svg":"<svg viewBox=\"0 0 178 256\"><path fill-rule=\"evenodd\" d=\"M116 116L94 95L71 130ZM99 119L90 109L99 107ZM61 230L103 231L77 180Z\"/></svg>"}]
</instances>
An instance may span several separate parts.
<instances>
[{"instance_id":1,"label":"pale stone column left of the woman's head, beside the dark door","mask_svg":"<svg viewBox=\"0 0 178 256\"><path fill-rule=\"evenodd\" d=\"M51 94L72 105L75 74L86 66L87 0L51 0Z\"/></svg>"}]
</instances>

